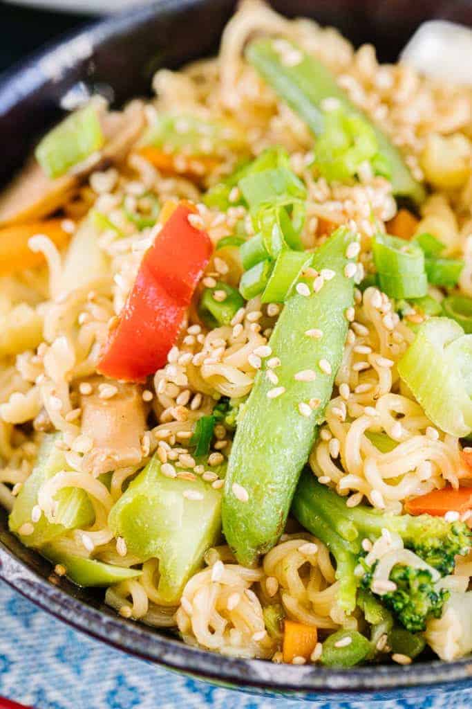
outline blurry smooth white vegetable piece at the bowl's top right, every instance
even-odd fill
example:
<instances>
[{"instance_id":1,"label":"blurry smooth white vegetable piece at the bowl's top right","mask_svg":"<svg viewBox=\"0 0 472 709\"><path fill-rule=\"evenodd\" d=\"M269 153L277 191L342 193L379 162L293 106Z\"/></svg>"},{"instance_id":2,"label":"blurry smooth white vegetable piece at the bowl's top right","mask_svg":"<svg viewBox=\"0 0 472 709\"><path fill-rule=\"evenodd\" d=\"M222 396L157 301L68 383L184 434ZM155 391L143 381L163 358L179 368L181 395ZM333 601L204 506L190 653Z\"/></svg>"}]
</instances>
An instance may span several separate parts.
<instances>
[{"instance_id":1,"label":"blurry smooth white vegetable piece at the bowl's top right","mask_svg":"<svg viewBox=\"0 0 472 709\"><path fill-rule=\"evenodd\" d=\"M445 20L425 22L400 60L432 79L472 84L472 30Z\"/></svg>"}]
</instances>

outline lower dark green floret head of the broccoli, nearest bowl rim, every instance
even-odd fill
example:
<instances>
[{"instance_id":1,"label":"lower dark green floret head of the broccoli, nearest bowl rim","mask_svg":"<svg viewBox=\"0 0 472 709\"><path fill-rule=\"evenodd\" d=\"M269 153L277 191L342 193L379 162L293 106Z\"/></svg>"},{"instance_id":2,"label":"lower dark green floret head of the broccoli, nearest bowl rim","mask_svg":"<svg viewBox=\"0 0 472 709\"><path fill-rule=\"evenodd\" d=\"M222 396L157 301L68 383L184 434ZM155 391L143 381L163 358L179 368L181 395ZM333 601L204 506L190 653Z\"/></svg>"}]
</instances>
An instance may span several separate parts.
<instances>
[{"instance_id":1,"label":"lower dark green floret head of the broccoli, nearest bowl rim","mask_svg":"<svg viewBox=\"0 0 472 709\"><path fill-rule=\"evenodd\" d=\"M391 571L390 580L396 584L396 591L385 593L381 601L395 613L406 630L426 630L429 618L441 618L450 594L444 588L440 591L434 588L430 571L397 564Z\"/></svg>"}]
</instances>

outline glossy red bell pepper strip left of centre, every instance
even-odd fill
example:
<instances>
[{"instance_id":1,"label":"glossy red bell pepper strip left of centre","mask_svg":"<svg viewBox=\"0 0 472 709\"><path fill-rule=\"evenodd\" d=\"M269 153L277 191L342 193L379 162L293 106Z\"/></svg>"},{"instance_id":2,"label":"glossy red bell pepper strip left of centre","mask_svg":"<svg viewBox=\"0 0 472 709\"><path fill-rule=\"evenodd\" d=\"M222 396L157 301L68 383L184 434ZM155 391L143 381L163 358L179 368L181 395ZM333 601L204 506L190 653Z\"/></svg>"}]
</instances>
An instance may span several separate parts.
<instances>
[{"instance_id":1,"label":"glossy red bell pepper strip left of centre","mask_svg":"<svg viewBox=\"0 0 472 709\"><path fill-rule=\"evenodd\" d=\"M177 206L144 254L108 336L97 367L101 374L140 381L166 364L213 250L207 233L190 224L192 213L186 204Z\"/></svg>"}]
</instances>

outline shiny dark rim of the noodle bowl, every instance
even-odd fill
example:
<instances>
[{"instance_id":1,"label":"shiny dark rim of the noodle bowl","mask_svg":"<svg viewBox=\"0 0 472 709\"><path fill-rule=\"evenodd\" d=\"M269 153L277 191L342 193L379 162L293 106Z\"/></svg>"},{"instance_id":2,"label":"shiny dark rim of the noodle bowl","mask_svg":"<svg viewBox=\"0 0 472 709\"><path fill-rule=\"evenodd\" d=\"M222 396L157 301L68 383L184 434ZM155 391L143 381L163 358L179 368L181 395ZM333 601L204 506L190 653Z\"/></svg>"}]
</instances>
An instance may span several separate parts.
<instances>
[{"instance_id":1,"label":"shiny dark rim of the noodle bowl","mask_svg":"<svg viewBox=\"0 0 472 709\"><path fill-rule=\"evenodd\" d=\"M56 42L46 45L25 60L0 75L0 106L11 108L25 95L22 84L28 77L26 94L40 89L50 77L36 70L38 63L54 52L62 58L64 72L71 69L66 48L79 38L86 40L91 50L105 40L132 30L156 13L182 6L198 6L202 0L154 0L153 3L125 11L93 23L85 23ZM69 66L68 66L69 64ZM1 118L1 115L0 115ZM182 641L161 636L145 625L124 620L118 615L94 608L74 598L62 588L47 581L38 572L11 552L0 540L0 579L35 603L42 610L62 620L75 630L105 642L136 657L166 666L168 669L233 686L270 689L275 692L321 695L338 693L384 693L393 698L398 689L441 684L452 691L457 684L472 686L472 658L452 662L441 660L401 665L376 665L358 669L326 669L313 666L272 664L258 659L225 657L192 647Z\"/></svg>"}]
</instances>

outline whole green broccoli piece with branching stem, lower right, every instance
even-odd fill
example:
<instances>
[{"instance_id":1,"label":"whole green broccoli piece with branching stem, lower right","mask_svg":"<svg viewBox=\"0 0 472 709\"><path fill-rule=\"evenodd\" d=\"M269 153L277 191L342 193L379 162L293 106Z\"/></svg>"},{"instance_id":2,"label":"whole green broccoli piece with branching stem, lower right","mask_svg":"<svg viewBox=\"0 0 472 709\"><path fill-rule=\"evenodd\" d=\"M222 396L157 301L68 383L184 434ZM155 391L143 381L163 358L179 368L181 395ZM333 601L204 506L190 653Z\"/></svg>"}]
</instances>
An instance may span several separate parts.
<instances>
[{"instance_id":1,"label":"whole green broccoli piece with branching stem, lower right","mask_svg":"<svg viewBox=\"0 0 472 709\"><path fill-rule=\"evenodd\" d=\"M372 583L374 569L365 562L364 539L375 542L383 530L399 535L407 549L442 575L454 569L456 554L467 554L471 548L471 531L464 523L447 523L430 515L393 515L365 505L349 508L345 498L318 483L308 469L301 475L292 514L333 554L336 578L340 581L338 603L346 613L355 609L362 577L364 588L370 588ZM447 595L434 591L429 572L398 565L393 568L391 581L397 584L396 591L379 599L405 627L424 627L428 617L440 615Z\"/></svg>"}]
</instances>

